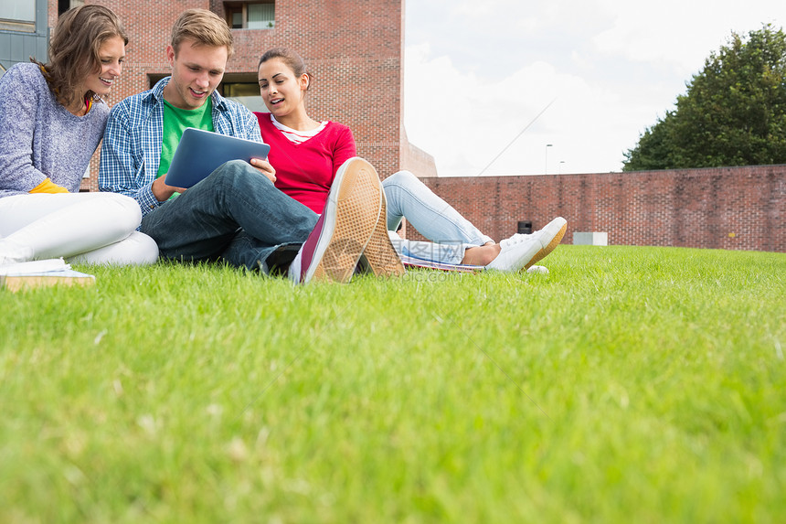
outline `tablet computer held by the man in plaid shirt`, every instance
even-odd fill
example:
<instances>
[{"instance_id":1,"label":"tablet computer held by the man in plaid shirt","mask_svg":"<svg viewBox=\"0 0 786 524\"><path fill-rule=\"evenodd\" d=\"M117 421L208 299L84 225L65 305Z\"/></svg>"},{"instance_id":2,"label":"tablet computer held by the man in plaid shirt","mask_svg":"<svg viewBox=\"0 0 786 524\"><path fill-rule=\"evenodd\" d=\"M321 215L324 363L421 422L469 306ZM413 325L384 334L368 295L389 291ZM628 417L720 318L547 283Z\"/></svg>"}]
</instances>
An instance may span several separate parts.
<instances>
[{"instance_id":1,"label":"tablet computer held by the man in plaid shirt","mask_svg":"<svg viewBox=\"0 0 786 524\"><path fill-rule=\"evenodd\" d=\"M168 186L192 187L229 160L265 160L270 150L261 142L186 127L165 181Z\"/></svg>"}]
</instances>

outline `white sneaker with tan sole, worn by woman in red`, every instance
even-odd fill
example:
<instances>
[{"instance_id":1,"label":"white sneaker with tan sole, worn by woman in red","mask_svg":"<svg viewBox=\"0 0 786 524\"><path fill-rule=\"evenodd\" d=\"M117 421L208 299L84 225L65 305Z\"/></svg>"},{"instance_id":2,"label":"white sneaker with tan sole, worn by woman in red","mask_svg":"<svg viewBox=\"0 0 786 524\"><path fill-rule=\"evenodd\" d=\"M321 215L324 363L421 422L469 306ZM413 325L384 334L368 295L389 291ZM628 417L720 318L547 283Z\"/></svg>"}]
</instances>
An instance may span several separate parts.
<instances>
[{"instance_id":1,"label":"white sneaker with tan sole, worn by woman in red","mask_svg":"<svg viewBox=\"0 0 786 524\"><path fill-rule=\"evenodd\" d=\"M517 272L542 260L562 241L568 229L568 220L558 217L551 220L545 228L531 235L516 233L499 243L502 251L485 267L494 271Z\"/></svg>"}]
</instances>

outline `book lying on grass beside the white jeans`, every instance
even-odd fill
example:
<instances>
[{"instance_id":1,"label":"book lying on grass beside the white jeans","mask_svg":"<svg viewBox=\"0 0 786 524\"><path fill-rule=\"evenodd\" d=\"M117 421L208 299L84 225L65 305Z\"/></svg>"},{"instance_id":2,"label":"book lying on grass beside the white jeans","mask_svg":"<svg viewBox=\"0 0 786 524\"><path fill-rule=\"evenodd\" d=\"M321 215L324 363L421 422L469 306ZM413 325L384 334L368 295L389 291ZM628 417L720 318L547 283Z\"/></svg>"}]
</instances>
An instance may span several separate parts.
<instances>
[{"instance_id":1,"label":"book lying on grass beside the white jeans","mask_svg":"<svg viewBox=\"0 0 786 524\"><path fill-rule=\"evenodd\" d=\"M92 285L95 280L91 274L72 270L61 258L0 266L0 288L14 293L51 285Z\"/></svg>"}]
</instances>

